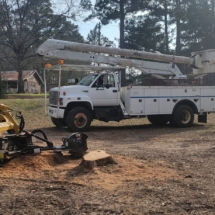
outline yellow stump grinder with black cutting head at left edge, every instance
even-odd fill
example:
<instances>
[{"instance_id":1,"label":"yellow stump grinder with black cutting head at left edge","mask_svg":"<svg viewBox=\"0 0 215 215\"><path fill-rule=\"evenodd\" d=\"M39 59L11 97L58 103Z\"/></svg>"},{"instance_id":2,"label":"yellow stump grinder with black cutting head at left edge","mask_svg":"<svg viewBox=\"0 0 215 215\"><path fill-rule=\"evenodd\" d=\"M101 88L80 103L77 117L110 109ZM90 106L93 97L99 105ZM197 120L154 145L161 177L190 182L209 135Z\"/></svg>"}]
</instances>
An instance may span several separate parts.
<instances>
[{"instance_id":1,"label":"yellow stump grinder with black cutting head at left edge","mask_svg":"<svg viewBox=\"0 0 215 215\"><path fill-rule=\"evenodd\" d=\"M16 112L16 119L12 112ZM19 111L11 110L8 106L0 104L0 132L7 131L9 134L0 136L0 165L8 158L19 154L37 154L42 151L53 150L54 152L68 151L75 158L82 157L87 151L88 136L83 133L73 133L62 139L61 146L54 146L46 134L36 129L31 132L23 130L24 118ZM42 136L42 137L41 137ZM46 143L46 146L34 145L32 137Z\"/></svg>"}]
</instances>

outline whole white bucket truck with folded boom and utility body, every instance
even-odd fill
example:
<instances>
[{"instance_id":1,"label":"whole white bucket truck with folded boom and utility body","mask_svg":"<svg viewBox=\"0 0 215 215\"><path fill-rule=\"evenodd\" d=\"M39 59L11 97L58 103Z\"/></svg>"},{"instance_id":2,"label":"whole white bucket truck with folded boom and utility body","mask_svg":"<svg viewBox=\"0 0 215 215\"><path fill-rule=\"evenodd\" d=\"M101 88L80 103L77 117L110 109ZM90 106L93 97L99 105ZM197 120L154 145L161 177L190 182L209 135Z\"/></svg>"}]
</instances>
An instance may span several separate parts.
<instances>
[{"instance_id":1,"label":"whole white bucket truck with folded boom and utility body","mask_svg":"<svg viewBox=\"0 0 215 215\"><path fill-rule=\"evenodd\" d=\"M56 126L86 131L93 119L119 122L147 116L155 125L170 122L177 127L189 127L194 114L199 122L206 123L207 114L215 112L215 86L189 83L175 65L187 64L198 75L215 72L215 50L192 53L189 58L49 39L37 53L50 58L109 64L113 68L111 72L89 74L77 85L50 90L48 114ZM116 72L119 70L116 66L134 67L152 74L161 78L163 86L121 87L121 71ZM162 79L162 75L170 79Z\"/></svg>"}]
</instances>

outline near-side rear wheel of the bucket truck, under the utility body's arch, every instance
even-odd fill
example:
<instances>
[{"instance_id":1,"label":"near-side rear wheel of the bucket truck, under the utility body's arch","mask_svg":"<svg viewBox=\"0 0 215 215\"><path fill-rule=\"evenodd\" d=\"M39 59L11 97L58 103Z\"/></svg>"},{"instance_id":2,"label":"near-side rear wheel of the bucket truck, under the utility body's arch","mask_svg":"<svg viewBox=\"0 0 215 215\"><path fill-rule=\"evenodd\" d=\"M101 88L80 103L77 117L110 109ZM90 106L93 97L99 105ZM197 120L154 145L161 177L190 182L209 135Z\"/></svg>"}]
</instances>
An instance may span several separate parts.
<instances>
[{"instance_id":1,"label":"near-side rear wheel of the bucket truck, under the utility body's arch","mask_svg":"<svg viewBox=\"0 0 215 215\"><path fill-rule=\"evenodd\" d=\"M188 105L180 105L173 113L172 121L176 127L190 127L194 121L194 113L192 108Z\"/></svg>"}]
</instances>

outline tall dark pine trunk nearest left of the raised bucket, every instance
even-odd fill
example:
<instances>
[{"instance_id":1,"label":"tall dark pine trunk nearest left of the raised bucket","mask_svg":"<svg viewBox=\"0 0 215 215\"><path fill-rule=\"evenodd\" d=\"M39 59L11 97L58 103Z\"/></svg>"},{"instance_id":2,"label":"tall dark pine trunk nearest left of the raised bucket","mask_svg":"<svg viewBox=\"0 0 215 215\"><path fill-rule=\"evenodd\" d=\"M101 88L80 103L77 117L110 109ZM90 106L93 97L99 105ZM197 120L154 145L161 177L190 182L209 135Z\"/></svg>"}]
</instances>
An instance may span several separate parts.
<instances>
[{"instance_id":1,"label":"tall dark pine trunk nearest left of the raised bucket","mask_svg":"<svg viewBox=\"0 0 215 215\"><path fill-rule=\"evenodd\" d=\"M180 0L176 0L176 9L179 10L180 7ZM176 15L176 54L181 54L181 20L178 11Z\"/></svg>"}]
</instances>

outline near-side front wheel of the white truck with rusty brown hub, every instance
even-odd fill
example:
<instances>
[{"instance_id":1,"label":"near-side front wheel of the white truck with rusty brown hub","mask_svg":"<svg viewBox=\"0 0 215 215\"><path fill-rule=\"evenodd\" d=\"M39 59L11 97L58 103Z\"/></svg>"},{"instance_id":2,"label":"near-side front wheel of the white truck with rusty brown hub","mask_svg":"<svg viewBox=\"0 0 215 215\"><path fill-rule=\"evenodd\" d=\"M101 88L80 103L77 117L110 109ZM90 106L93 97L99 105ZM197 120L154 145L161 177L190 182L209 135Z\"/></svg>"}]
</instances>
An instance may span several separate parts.
<instances>
[{"instance_id":1,"label":"near-side front wheel of the white truck with rusty brown hub","mask_svg":"<svg viewBox=\"0 0 215 215\"><path fill-rule=\"evenodd\" d=\"M90 113L84 107L75 107L68 113L66 122L72 131L86 131L91 124Z\"/></svg>"}]
</instances>

